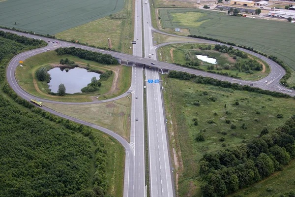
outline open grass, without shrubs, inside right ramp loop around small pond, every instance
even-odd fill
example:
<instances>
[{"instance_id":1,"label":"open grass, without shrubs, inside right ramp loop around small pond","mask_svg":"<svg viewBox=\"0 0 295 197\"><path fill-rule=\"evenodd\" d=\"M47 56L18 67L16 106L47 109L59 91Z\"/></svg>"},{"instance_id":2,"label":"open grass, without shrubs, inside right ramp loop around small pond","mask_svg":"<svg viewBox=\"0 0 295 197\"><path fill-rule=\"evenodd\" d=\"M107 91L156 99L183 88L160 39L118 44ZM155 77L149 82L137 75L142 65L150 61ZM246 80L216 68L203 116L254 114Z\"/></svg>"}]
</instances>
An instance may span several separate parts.
<instances>
[{"instance_id":1,"label":"open grass, without shrubs, inside right ramp loop around small pond","mask_svg":"<svg viewBox=\"0 0 295 197\"><path fill-rule=\"evenodd\" d=\"M214 45L211 45L211 46L212 46L211 48L213 49ZM207 55L209 57L215 58L217 60L216 66L222 66L226 63L233 65L236 62L236 60L230 57L229 54L219 53L218 51L214 51L214 50L201 50L199 49L199 47L204 48L204 47L207 47L207 45L206 44L183 44L183 43L171 44L158 49L158 57L160 58L160 61L163 61L163 62L178 63L178 64L185 65L185 63L187 62L185 60L185 52L189 51L191 54L190 57L192 60L194 60L194 58L196 59L195 54ZM223 72L223 73L228 72L234 75L236 75L237 73L236 76L239 76L242 79L250 80L250 81L259 80L269 74L270 72L269 66L266 64L266 62L258 59L257 57L248 56L247 59L241 60L241 64L243 64L243 62L245 61L248 61L249 59L258 60L260 61L261 64L264 64L266 67L265 72L253 70L253 74L249 74L245 72L239 72L238 70L226 70L226 69L216 70L216 66L214 67L214 71ZM199 67L208 71L207 66L210 66L211 64L203 62L203 61L200 61L200 62L201 62L201 65Z\"/></svg>"}]
</instances>

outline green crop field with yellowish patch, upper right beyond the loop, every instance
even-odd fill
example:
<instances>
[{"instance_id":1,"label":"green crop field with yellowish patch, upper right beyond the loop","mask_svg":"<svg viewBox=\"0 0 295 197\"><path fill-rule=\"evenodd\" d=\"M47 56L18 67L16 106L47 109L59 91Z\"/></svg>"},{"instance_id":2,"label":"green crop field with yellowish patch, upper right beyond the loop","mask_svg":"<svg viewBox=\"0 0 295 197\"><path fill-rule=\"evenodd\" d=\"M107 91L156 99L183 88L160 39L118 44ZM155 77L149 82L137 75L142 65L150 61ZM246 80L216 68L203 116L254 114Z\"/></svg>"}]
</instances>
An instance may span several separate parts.
<instances>
[{"instance_id":1,"label":"green crop field with yellowish patch, upper right beyond the loop","mask_svg":"<svg viewBox=\"0 0 295 197\"><path fill-rule=\"evenodd\" d=\"M192 35L217 38L253 47L277 56L295 69L293 45L295 25L260 18L233 17L223 12L200 9L160 9L162 28L188 28ZM289 83L295 84L295 81Z\"/></svg>"}]
</instances>

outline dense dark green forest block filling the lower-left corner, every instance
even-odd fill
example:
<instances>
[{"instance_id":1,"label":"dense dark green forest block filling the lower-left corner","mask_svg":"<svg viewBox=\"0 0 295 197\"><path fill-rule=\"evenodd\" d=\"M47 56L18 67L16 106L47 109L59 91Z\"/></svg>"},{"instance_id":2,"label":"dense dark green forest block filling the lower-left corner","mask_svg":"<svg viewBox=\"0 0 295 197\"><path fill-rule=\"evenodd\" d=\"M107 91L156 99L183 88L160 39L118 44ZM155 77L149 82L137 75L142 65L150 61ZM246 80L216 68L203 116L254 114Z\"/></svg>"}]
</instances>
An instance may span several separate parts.
<instances>
[{"instance_id":1,"label":"dense dark green forest block filling the lower-left corner","mask_svg":"<svg viewBox=\"0 0 295 197\"><path fill-rule=\"evenodd\" d=\"M37 108L35 108L37 109ZM0 95L0 197L68 196L86 189L89 140Z\"/></svg>"}]
</instances>

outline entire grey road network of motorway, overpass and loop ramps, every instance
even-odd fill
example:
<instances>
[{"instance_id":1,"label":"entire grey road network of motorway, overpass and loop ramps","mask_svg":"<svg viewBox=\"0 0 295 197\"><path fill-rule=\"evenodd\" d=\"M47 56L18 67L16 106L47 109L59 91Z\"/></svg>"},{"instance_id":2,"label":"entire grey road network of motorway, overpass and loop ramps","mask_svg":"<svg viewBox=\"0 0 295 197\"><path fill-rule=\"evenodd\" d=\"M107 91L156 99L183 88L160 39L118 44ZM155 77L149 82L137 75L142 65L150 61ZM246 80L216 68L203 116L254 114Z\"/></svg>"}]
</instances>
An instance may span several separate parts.
<instances>
[{"instance_id":1,"label":"entire grey road network of motorway, overpass and loop ramps","mask_svg":"<svg viewBox=\"0 0 295 197\"><path fill-rule=\"evenodd\" d=\"M143 5L141 5L141 3L143 3ZM69 119L77 123L90 126L95 129L99 129L107 134L110 134L124 146L126 151L124 197L142 197L142 196L144 197L146 195L145 172L144 172L145 158L144 158L144 110L143 110L144 97L143 97L143 75L142 75L143 68L141 64L146 64L147 67L151 66L151 69L146 69L147 79L148 77L151 79L158 79L159 75L157 72L157 68L164 68L164 69L177 70L177 71L186 71L188 73L212 77L222 81L230 81L232 83L238 83L241 85L253 84L254 87L259 87L262 89L276 91L276 92L282 92L282 93L294 96L293 92L287 92L287 89L279 84L279 79L285 74L285 70L281 66L279 66L272 60L267 59L266 57L262 57L259 54L253 53L252 51L248 51L243 48L234 47L234 48L238 48L241 51L254 55L256 57L262 58L264 61L266 61L267 64L270 65L271 72L267 77L259 81L253 81L253 82L245 81L245 80L233 79L231 77L227 77L223 75L208 73L205 71L199 71L199 70L195 70L191 68L185 68L185 67L176 66L173 64L159 62L155 60L156 57L148 58L148 54L154 54L154 56L156 56L156 51L158 47L161 47L167 44L181 43L181 42L171 42L171 43L165 43L165 44L159 44L157 46L153 46L151 31L155 31L159 33L162 33L162 32L155 30L151 27L151 21L150 21L150 15L149 15L150 13L149 4L145 4L145 1L142 1L141 3L138 1L136 2L136 10L137 10L136 14L138 14L136 15L136 18L138 18L138 21L137 20L135 21L134 34L135 34L135 38L138 38L138 40L136 40L137 42L136 47L134 46L133 48L133 55L122 54L122 53L113 52L113 51L106 51L102 49L96 49L89 46L83 46L83 45L64 42L64 41L60 41L59 43L52 43L52 41L55 41L55 39L40 37L33 34L19 33L19 32L9 31L5 29L0 29L5 32L12 32L19 35L24 35L26 37L43 39L45 41L48 41L48 40L51 41L46 47L34 49L31 51L18 54L11 60L10 64L7 67L6 77L7 77L8 83L11 85L13 90L24 99L27 99L27 100L39 99L41 101L47 101L52 103L63 103L63 104L90 104L90 103L100 103L100 102L116 100L119 98L123 98L129 95L130 93L133 93L132 94L133 107L131 112L131 119L132 119L131 128L132 129L131 129L130 144L113 131L107 130L105 128L93 125L85 121L81 121L81 120L60 114L59 112L53 111L52 109L49 109L46 106L43 106L44 110L49 111L55 115ZM141 7L143 7L143 10L144 10L143 19L141 19ZM141 21L143 22L143 24L140 23ZM141 32L142 27L144 28L145 58L142 57L142 51L141 51L143 48L143 45L140 39L142 38L142 32ZM170 35L168 33L163 33L163 34ZM184 36L177 36L177 37L184 37ZM210 44L218 43L214 41L201 40L201 39L195 39L195 40L196 41L193 41L193 42L210 43ZM79 47L79 48L96 51L96 52L100 52L104 54L110 54L113 57L118 58L119 60L128 61L129 64L132 64L132 63L136 64L136 66L133 66L132 68L132 85L130 89L126 93L124 93L123 95L117 98L101 100L101 101L93 101L93 102L87 102L87 103L77 103L77 102L59 102L59 101L36 98L34 96L29 95L28 93L26 93L24 90L22 90L19 87L14 76L14 72L16 67L19 65L19 61L24 61L31 56L44 53L48 50L54 50L59 47L70 47L70 46ZM151 65L151 63L155 65ZM150 85L151 84L149 85L147 84L147 96L148 96L147 105L148 105L148 134L149 134L148 143L149 143L149 160L150 160L149 162L150 162L151 196L152 197L156 197L156 196L172 197L174 195L173 193L174 187L173 187L173 181L171 176L171 165L169 162L169 151L166 151L168 149L168 143L166 138L165 126L163 127L163 125L165 125L165 121L164 121L163 105L160 102L161 90L160 90L159 84L152 84L152 86ZM137 96L138 99L135 99L134 96ZM139 121L135 121L135 118L138 118ZM159 124L160 126L157 126L157 124ZM157 159L159 159L159 161L157 161Z\"/></svg>"}]
</instances>

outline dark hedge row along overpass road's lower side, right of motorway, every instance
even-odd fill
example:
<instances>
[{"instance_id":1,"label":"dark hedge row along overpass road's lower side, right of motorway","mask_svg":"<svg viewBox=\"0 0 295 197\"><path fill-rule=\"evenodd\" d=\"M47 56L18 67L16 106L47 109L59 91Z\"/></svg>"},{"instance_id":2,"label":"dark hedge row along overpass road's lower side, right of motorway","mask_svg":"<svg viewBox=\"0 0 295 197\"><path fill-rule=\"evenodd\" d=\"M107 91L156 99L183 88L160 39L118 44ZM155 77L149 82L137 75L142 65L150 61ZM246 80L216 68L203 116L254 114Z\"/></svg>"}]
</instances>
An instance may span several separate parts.
<instances>
[{"instance_id":1,"label":"dark hedge row along overpass road's lower side, right of motorway","mask_svg":"<svg viewBox=\"0 0 295 197\"><path fill-rule=\"evenodd\" d=\"M250 86L246 86L246 85L239 85L237 83L231 83L228 81L221 81L218 79L213 79L211 77L203 77L200 75L196 76L195 74L189 74L187 72L182 72L182 71L174 71L174 70L170 71L168 74L168 77L183 79L183 80L188 80L188 79L194 78L194 81L196 83L210 84L213 86L220 86L223 88L231 88L233 90L244 90L244 91L249 91L249 92L254 92L254 93L259 93L259 94L264 94L264 95L270 95L272 97L277 97L277 98L291 98L290 95L287 95L284 93L263 90L261 88L250 87Z\"/></svg>"}]
</instances>

